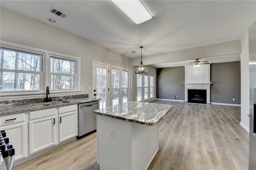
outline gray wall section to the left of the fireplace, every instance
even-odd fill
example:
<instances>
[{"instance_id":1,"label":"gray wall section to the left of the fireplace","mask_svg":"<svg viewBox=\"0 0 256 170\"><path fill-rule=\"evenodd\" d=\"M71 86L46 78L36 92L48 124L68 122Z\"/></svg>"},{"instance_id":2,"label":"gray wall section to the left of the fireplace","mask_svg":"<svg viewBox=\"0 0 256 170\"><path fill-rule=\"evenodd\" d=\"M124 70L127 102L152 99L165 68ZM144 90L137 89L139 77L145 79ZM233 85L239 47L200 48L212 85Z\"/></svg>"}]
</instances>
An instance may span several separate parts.
<instances>
[{"instance_id":1,"label":"gray wall section to the left of the fireplace","mask_svg":"<svg viewBox=\"0 0 256 170\"><path fill-rule=\"evenodd\" d=\"M185 100L184 81L184 66L156 69L156 98Z\"/></svg>"}]
</instances>

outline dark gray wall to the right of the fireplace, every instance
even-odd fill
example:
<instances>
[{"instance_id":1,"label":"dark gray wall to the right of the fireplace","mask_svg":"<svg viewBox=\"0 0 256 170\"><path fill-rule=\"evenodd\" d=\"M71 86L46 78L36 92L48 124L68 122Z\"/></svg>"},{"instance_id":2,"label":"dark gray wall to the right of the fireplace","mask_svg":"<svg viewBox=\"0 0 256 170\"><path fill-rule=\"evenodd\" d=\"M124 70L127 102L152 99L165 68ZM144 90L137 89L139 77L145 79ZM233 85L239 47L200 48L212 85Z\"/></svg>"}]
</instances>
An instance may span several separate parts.
<instances>
[{"instance_id":1,"label":"dark gray wall to the right of the fireplace","mask_svg":"<svg viewBox=\"0 0 256 170\"><path fill-rule=\"evenodd\" d=\"M211 64L211 102L241 103L240 61ZM235 99L233 101L232 99Z\"/></svg>"}]
</instances>

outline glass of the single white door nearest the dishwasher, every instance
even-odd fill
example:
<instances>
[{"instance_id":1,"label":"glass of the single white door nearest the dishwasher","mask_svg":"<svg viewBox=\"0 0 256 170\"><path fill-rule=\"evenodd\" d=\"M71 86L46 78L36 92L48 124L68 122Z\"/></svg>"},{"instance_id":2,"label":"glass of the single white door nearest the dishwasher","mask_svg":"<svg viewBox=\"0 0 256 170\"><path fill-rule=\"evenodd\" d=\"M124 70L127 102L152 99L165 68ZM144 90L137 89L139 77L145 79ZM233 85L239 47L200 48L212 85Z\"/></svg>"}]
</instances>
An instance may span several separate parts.
<instances>
[{"instance_id":1,"label":"glass of the single white door nearest the dishwasher","mask_svg":"<svg viewBox=\"0 0 256 170\"><path fill-rule=\"evenodd\" d=\"M106 93L107 93L107 69L96 67L96 95L100 98L99 108L106 108Z\"/></svg>"}]
</instances>

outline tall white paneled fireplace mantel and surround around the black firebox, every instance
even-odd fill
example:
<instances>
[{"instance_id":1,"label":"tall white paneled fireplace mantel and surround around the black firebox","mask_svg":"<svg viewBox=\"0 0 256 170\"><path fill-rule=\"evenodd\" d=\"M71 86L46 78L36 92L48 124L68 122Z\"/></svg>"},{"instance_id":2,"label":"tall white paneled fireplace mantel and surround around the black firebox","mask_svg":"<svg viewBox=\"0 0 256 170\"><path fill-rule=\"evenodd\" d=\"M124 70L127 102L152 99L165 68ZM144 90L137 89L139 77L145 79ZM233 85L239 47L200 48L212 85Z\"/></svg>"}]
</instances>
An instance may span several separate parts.
<instances>
[{"instance_id":1,"label":"tall white paneled fireplace mantel and surround around the black firebox","mask_svg":"<svg viewBox=\"0 0 256 170\"><path fill-rule=\"evenodd\" d=\"M206 90L206 103L210 103L210 64L194 67L185 65L185 101L188 102L188 89Z\"/></svg>"}]
</instances>

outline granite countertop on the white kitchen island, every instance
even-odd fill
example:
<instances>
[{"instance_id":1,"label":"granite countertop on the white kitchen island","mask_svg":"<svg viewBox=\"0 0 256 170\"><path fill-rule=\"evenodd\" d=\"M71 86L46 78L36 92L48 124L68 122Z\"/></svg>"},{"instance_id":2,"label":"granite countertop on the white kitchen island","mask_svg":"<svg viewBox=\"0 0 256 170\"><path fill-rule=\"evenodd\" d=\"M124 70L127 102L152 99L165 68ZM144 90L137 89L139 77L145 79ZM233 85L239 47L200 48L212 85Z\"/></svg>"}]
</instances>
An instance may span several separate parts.
<instances>
[{"instance_id":1,"label":"granite countertop on the white kitchen island","mask_svg":"<svg viewBox=\"0 0 256 170\"><path fill-rule=\"evenodd\" d=\"M120 105L114 105L104 109L98 109L94 113L115 119L153 126L172 109L172 105L129 101Z\"/></svg>"}]
</instances>

